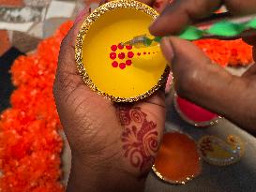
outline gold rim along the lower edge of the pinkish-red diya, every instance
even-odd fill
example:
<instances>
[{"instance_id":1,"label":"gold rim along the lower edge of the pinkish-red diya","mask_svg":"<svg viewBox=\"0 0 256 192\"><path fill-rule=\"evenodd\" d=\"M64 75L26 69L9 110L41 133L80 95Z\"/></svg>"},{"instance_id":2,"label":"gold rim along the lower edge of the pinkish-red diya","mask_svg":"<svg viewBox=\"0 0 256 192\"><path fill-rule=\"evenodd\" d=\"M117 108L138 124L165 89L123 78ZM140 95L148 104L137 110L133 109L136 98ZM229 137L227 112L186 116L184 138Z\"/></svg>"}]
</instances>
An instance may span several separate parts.
<instances>
[{"instance_id":1,"label":"gold rim along the lower edge of the pinkish-red diya","mask_svg":"<svg viewBox=\"0 0 256 192\"><path fill-rule=\"evenodd\" d=\"M188 117L185 114L183 114L183 112L178 107L176 93L174 94L174 97L173 97L173 106L175 111L179 114L179 116L191 126L196 126L196 127L214 126L214 125L217 125L218 121L222 118L221 116L218 116L214 118L212 121L206 121L206 122L195 122L193 120L188 119Z\"/></svg>"}]
</instances>

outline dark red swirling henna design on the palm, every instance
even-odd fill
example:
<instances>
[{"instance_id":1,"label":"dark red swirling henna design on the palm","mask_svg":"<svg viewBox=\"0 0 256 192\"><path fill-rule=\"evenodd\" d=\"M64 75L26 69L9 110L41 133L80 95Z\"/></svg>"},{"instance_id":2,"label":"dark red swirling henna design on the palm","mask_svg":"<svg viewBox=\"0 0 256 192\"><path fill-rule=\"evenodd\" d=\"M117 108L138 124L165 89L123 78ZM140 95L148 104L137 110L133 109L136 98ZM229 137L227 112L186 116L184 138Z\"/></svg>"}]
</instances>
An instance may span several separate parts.
<instances>
[{"instance_id":1,"label":"dark red swirling henna design on the palm","mask_svg":"<svg viewBox=\"0 0 256 192\"><path fill-rule=\"evenodd\" d=\"M157 124L148 121L139 107L119 107L118 116L124 126L121 140L125 157L142 172L149 170L158 151Z\"/></svg>"}]
</instances>

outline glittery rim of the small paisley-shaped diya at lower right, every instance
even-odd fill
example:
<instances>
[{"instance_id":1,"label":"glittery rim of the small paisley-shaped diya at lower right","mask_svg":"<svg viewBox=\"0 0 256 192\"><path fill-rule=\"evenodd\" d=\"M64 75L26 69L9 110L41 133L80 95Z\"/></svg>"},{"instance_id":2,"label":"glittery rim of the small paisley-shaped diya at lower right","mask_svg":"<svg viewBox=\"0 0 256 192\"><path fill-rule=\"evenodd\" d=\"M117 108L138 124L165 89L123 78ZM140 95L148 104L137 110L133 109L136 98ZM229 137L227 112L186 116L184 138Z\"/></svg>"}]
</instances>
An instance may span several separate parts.
<instances>
[{"instance_id":1,"label":"glittery rim of the small paisley-shaped diya at lower right","mask_svg":"<svg viewBox=\"0 0 256 192\"><path fill-rule=\"evenodd\" d=\"M210 159L208 159L206 156L203 155L202 151L200 150L201 149L201 146L200 144L202 143L203 139L205 138L213 138L213 139L218 139L218 140L221 140L223 142L227 142L227 140L230 138L230 137L236 137L239 141L240 141L240 144L241 144L241 154L239 154L239 156L237 157L237 159L233 159L229 162L214 162ZM229 135L227 136L226 140L222 140L220 138L218 138L217 136L212 136L212 135L204 135L203 137L201 137L198 142L197 142L197 147L198 147L198 151L199 151L199 155L201 156L201 158L203 159L203 161L205 161L206 163L208 163L209 165L213 165L213 166L219 166L219 167L225 167L225 166L230 166L230 165L233 165L237 162L239 162L241 160L241 158L245 155L245 143L240 139L238 138L237 136L233 136L233 135Z\"/></svg>"}]
</instances>

